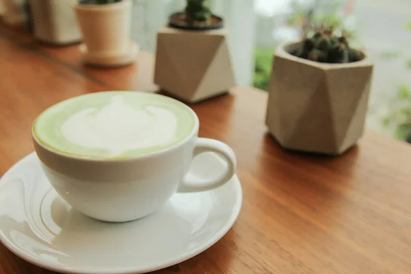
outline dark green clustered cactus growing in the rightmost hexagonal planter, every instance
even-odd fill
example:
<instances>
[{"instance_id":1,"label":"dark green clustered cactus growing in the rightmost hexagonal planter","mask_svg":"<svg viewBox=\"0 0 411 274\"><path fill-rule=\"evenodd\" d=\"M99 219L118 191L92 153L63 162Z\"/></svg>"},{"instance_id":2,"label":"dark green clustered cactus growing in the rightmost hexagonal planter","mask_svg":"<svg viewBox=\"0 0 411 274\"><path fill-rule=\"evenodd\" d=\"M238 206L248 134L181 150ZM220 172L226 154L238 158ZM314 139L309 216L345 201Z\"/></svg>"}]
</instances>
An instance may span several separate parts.
<instances>
[{"instance_id":1,"label":"dark green clustered cactus growing in the rightmost hexagonal planter","mask_svg":"<svg viewBox=\"0 0 411 274\"><path fill-rule=\"evenodd\" d=\"M336 36L332 28L319 27L314 35L304 38L296 55L299 58L323 63L349 63L364 58L364 53L349 47L347 34Z\"/></svg>"}]
</instances>

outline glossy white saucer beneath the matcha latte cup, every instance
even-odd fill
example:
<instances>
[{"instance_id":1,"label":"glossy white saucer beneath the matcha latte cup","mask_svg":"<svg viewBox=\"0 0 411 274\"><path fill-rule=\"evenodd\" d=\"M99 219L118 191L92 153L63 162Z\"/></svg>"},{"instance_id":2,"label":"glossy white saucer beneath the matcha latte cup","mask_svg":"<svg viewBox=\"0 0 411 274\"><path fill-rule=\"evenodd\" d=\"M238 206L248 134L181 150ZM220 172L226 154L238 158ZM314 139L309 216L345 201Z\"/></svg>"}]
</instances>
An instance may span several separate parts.
<instances>
[{"instance_id":1,"label":"glossy white saucer beneath the matcha latte cup","mask_svg":"<svg viewBox=\"0 0 411 274\"><path fill-rule=\"evenodd\" d=\"M191 176L223 170L211 153ZM232 227L242 204L236 176L215 190L178 193L164 208L129 223L103 223L72 210L43 175L35 153L0 179L0 240L17 256L62 273L147 273L192 258Z\"/></svg>"}]
</instances>

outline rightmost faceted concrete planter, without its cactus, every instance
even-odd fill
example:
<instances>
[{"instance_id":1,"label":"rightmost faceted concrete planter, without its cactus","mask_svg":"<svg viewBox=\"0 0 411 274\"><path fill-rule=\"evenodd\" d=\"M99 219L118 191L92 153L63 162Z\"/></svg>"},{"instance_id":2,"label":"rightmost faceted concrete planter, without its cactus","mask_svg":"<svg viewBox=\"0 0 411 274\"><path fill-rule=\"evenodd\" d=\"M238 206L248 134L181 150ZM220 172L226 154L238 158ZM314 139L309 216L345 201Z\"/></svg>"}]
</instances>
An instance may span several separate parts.
<instances>
[{"instance_id":1,"label":"rightmost faceted concrete planter, without its cactus","mask_svg":"<svg viewBox=\"0 0 411 274\"><path fill-rule=\"evenodd\" d=\"M373 63L314 62L289 53L298 47L274 55L266 125L286 149L340 155L364 132Z\"/></svg>"}]
</instances>

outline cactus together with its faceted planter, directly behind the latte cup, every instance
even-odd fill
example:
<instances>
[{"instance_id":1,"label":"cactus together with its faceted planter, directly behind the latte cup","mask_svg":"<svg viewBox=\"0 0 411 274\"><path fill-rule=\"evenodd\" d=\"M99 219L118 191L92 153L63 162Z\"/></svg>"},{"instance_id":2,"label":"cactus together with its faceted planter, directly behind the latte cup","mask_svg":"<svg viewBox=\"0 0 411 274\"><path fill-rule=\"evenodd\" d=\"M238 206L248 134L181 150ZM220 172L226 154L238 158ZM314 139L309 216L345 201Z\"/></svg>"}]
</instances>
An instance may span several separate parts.
<instances>
[{"instance_id":1,"label":"cactus together with its faceted planter, directly behind the latte cup","mask_svg":"<svg viewBox=\"0 0 411 274\"><path fill-rule=\"evenodd\" d=\"M221 95L234 86L223 18L209 0L186 0L157 36L154 82L186 103Z\"/></svg>"}]
</instances>

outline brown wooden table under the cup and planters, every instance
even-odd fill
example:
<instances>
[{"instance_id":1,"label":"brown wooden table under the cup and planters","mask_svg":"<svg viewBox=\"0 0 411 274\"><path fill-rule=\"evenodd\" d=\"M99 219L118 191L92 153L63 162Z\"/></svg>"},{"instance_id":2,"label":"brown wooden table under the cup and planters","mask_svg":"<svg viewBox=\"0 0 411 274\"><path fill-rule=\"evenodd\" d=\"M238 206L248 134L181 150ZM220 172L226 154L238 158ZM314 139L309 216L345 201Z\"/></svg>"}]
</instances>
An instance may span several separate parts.
<instances>
[{"instance_id":1,"label":"brown wooden table under the cup and planters","mask_svg":"<svg viewBox=\"0 0 411 274\"><path fill-rule=\"evenodd\" d=\"M145 90L153 56L121 69L82 66L77 47L47 48L0 28L0 175L34 150L33 119L49 105L100 90ZM339 158L284 151L267 133L267 95L237 87L191 105L200 136L230 145L244 202L234 227L165 273L411 273L411 147L367 132ZM50 273L0 244L0 274Z\"/></svg>"}]
</instances>

